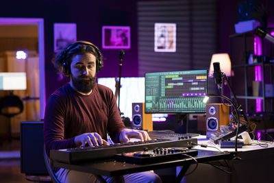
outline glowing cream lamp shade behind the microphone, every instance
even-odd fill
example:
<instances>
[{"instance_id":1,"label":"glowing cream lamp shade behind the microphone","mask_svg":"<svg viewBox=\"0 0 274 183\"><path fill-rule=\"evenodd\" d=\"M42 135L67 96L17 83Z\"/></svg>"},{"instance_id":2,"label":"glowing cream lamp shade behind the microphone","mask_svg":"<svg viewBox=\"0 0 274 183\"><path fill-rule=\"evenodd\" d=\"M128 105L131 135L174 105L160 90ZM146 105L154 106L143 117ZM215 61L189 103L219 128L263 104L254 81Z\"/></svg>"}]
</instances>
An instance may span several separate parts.
<instances>
[{"instance_id":1,"label":"glowing cream lamp shade behind the microphone","mask_svg":"<svg viewBox=\"0 0 274 183\"><path fill-rule=\"evenodd\" d=\"M227 53L216 53L212 55L210 62L209 77L213 77L213 63L220 62L221 72L225 73L227 77L231 76L231 61Z\"/></svg>"}]
</instances>

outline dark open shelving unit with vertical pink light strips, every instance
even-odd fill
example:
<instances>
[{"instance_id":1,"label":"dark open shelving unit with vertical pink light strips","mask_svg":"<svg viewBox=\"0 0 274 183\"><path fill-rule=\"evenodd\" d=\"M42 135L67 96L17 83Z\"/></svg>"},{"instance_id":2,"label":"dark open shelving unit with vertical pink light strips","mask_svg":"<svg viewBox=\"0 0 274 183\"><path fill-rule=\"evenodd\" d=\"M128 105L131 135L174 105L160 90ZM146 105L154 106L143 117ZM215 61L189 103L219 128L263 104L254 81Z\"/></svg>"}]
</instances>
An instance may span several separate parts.
<instances>
[{"instance_id":1,"label":"dark open shelving unit with vertical pink light strips","mask_svg":"<svg viewBox=\"0 0 274 183\"><path fill-rule=\"evenodd\" d=\"M274 29L269 28L268 32L271 30ZM252 32L229 36L230 58L232 60L232 77L230 78L230 82L245 112L256 113L258 108L259 110L261 108L261 112L273 112L274 97L266 97L265 84L274 84L274 63L262 61L273 60L273 45L271 45L272 43L268 42L268 40L261 38L262 56L255 57L262 62L249 64L249 56L251 56L251 54L254 55L254 49L256 49L256 47L254 48L254 38L255 36ZM258 78L255 76L256 66L260 66L259 72L262 76L259 80L260 83L254 83L258 81ZM255 84L258 84L257 88ZM259 96L253 96L254 90L260 93ZM257 99L261 100L262 106L259 106Z\"/></svg>"}]
</instances>

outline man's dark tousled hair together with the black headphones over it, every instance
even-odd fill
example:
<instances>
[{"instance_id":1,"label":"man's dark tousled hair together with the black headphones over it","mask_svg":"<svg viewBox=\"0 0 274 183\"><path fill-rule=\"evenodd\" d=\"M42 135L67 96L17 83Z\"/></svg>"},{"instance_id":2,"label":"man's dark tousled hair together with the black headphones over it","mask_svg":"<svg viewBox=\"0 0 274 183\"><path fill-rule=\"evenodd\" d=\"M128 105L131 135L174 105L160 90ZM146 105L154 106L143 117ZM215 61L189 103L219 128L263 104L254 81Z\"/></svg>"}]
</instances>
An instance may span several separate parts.
<instances>
[{"instance_id":1,"label":"man's dark tousled hair together with the black headphones over it","mask_svg":"<svg viewBox=\"0 0 274 183\"><path fill-rule=\"evenodd\" d=\"M71 58L78 54L84 55L85 53L91 53L94 55L96 58L97 70L99 65L101 65L101 69L103 66L103 60L99 49L95 47L95 45L92 45L92 43L85 41L77 41L73 42L71 45L68 45L60 53L58 53L51 62L53 62L55 69L57 69L58 72L64 73L64 75L68 77L71 68ZM69 69L69 71L66 71L66 69Z\"/></svg>"}]
</instances>

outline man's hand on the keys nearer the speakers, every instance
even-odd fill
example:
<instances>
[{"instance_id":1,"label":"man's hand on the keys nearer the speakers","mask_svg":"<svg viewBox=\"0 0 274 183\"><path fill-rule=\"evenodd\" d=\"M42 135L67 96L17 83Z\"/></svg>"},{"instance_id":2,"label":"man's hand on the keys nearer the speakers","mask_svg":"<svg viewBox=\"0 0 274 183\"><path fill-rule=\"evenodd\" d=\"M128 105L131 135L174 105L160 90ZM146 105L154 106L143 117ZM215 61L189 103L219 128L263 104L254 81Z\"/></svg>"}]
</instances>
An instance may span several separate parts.
<instances>
[{"instance_id":1,"label":"man's hand on the keys nearer the speakers","mask_svg":"<svg viewBox=\"0 0 274 183\"><path fill-rule=\"evenodd\" d=\"M149 137L149 134L147 134L146 131L143 130L131 130L125 128L122 130L119 136L119 141L121 143L128 143L129 138L139 138L140 141L149 141L151 138Z\"/></svg>"}]
</instances>

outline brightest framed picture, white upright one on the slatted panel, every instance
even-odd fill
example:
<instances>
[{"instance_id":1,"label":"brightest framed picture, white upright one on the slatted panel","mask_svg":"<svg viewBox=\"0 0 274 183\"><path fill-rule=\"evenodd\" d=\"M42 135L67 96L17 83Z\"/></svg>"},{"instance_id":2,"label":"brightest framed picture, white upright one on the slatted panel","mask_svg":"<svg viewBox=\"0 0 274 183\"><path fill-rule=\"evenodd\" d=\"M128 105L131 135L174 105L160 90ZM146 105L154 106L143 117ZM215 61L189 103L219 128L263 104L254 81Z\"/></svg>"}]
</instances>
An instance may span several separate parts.
<instances>
[{"instance_id":1,"label":"brightest framed picture, white upright one on the slatted panel","mask_svg":"<svg viewBox=\"0 0 274 183\"><path fill-rule=\"evenodd\" d=\"M176 51L176 23L154 24L154 51Z\"/></svg>"}]
</instances>

